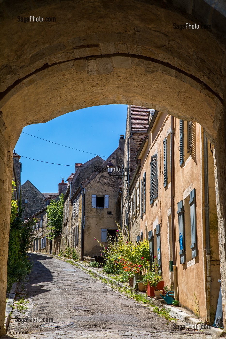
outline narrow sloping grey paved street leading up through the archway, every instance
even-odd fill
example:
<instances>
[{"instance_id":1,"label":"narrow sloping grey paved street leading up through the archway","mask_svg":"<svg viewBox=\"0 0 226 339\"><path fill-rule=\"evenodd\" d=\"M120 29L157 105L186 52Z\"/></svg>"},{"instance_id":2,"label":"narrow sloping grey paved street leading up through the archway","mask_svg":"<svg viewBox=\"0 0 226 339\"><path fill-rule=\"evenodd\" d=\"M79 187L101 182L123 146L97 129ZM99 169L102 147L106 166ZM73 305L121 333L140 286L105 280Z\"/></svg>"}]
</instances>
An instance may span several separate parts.
<instances>
[{"instance_id":1,"label":"narrow sloping grey paved street leading up through the archway","mask_svg":"<svg viewBox=\"0 0 226 339\"><path fill-rule=\"evenodd\" d=\"M172 322L70 263L41 254L30 256L34 261L30 280L18 291L24 291L24 299L29 303L25 303L21 313L14 309L7 335L2 338L214 338L208 334L175 331ZM19 322L15 317L33 318L33 321ZM39 321L34 321L38 318ZM46 318L72 324L61 328L43 327L49 323Z\"/></svg>"}]
</instances>

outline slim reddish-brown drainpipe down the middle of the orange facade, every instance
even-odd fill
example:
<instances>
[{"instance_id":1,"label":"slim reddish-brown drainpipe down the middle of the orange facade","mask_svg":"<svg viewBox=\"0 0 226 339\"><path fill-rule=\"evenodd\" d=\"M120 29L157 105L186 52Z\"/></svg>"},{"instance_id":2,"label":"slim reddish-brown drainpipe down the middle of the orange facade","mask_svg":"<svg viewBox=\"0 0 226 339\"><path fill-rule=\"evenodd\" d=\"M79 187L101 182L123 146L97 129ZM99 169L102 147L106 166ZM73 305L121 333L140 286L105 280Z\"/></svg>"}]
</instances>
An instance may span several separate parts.
<instances>
[{"instance_id":1,"label":"slim reddish-brown drainpipe down the middle of the orange facade","mask_svg":"<svg viewBox=\"0 0 226 339\"><path fill-rule=\"evenodd\" d=\"M174 117L171 117L171 226L172 226L172 252L173 252L173 286L174 299L178 300L177 294L177 270L176 270L176 248L175 248L175 213L174 213Z\"/></svg>"}]
</instances>

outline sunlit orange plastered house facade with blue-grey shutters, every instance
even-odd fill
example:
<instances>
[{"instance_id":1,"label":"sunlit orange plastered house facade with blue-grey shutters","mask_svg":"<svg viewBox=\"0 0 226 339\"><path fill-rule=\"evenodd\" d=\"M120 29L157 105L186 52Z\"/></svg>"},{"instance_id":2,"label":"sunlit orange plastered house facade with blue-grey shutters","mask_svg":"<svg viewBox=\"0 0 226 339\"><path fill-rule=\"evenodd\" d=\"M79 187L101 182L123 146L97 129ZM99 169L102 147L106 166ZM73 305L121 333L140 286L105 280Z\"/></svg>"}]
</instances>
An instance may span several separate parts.
<instances>
[{"instance_id":1,"label":"sunlit orange plastered house facade with blue-grey shutters","mask_svg":"<svg viewBox=\"0 0 226 339\"><path fill-rule=\"evenodd\" d=\"M149 239L150 258L157 258L165 285L174 284L173 272L169 269L174 241L178 299L193 312L195 294L199 300L200 318L213 323L220 289L218 279L221 278L213 147L208 141L208 155L204 155L207 139L201 125L172 119L174 133L171 133L171 117L161 111L155 112L154 119L149 119L148 135L135 156L140 161L140 168L129 184L131 238L133 242ZM171 156L172 138L174 158ZM204 157L208 163L208 203L205 201ZM171 168L174 173L174 213L171 209ZM208 207L209 257L205 219ZM172 218L175 239L172 238ZM136 227L133 231L134 220L139 229ZM207 276L208 264L210 277ZM207 281L211 283L210 299L207 298L210 286Z\"/></svg>"}]
</instances>

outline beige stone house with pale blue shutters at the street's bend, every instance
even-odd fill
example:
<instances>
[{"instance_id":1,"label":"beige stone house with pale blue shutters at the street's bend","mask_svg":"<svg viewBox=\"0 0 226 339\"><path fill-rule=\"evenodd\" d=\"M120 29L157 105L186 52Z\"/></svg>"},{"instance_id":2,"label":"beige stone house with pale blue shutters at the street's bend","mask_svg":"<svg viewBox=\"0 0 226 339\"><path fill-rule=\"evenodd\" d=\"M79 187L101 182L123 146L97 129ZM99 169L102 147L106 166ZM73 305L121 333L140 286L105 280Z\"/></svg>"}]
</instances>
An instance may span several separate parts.
<instances>
[{"instance_id":1,"label":"beige stone house with pale blue shutters at the street's bend","mask_svg":"<svg viewBox=\"0 0 226 339\"><path fill-rule=\"evenodd\" d=\"M122 144L121 141L121 147ZM120 168L117 174L111 176L106 171L110 161L114 167ZM122 163L123 150L118 147L87 180L77 186L71 197L69 192L65 195L62 238L65 238L65 244L75 248L81 260L83 256L95 259L100 256L101 247L95 238L107 246L107 233L115 236L118 227L115 221L120 223L121 215L117 197Z\"/></svg>"}]
</instances>

